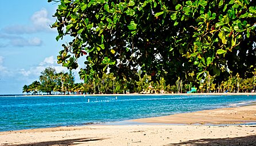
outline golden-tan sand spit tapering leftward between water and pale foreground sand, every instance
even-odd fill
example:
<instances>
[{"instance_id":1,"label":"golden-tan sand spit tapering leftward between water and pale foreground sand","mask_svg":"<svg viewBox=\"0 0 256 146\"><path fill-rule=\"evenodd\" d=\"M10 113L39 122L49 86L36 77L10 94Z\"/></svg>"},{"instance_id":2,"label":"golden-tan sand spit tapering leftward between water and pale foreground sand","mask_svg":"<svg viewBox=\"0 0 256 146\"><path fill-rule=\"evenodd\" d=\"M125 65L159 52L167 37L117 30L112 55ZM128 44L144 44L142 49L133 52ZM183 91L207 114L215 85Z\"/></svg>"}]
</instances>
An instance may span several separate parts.
<instances>
[{"instance_id":1,"label":"golden-tan sand spit tapering leftward between water and pale foreground sand","mask_svg":"<svg viewBox=\"0 0 256 146\"><path fill-rule=\"evenodd\" d=\"M167 124L242 124L256 123L256 105L221 108L170 116L135 119L141 123Z\"/></svg>"}]
</instances>

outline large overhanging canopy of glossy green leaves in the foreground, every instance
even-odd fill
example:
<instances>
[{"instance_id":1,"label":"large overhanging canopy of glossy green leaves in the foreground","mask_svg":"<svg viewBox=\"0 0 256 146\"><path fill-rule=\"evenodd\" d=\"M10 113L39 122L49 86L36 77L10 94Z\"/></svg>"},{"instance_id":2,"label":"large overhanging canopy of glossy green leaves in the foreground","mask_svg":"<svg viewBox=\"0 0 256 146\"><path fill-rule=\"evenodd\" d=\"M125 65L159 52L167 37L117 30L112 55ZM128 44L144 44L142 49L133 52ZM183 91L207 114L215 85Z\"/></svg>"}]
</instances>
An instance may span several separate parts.
<instances>
[{"instance_id":1,"label":"large overhanging canopy of glossy green leaves in the foreground","mask_svg":"<svg viewBox=\"0 0 256 146\"><path fill-rule=\"evenodd\" d=\"M58 63L76 69L86 56L80 76L139 80L138 69L152 80L164 77L200 81L206 74L222 81L255 70L256 1L250 0L48 0L58 2L52 27L56 40L65 35Z\"/></svg>"}]
</instances>

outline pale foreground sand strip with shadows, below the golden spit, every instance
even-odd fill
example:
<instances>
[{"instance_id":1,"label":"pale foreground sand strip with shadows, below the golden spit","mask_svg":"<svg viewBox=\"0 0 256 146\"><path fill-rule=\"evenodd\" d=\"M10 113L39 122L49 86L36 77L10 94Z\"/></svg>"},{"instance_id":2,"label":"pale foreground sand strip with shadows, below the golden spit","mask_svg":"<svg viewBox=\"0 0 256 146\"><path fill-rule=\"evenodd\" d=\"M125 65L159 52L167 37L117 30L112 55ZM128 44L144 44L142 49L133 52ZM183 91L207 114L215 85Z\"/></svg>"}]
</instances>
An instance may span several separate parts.
<instances>
[{"instance_id":1,"label":"pale foreground sand strip with shadows, below the golden spit","mask_svg":"<svg viewBox=\"0 0 256 146\"><path fill-rule=\"evenodd\" d=\"M0 133L1 145L255 145L256 125L90 125Z\"/></svg>"}]
</instances>

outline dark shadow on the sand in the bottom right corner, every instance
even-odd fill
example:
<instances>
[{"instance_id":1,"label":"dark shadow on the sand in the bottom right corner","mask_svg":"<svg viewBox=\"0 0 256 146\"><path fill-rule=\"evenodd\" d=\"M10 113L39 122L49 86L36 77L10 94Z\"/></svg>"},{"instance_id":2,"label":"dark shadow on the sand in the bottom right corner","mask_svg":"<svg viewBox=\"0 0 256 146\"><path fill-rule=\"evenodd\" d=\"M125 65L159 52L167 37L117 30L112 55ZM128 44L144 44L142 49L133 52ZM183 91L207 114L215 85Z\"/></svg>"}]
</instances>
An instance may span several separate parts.
<instances>
[{"instance_id":1,"label":"dark shadow on the sand in the bottom right corner","mask_svg":"<svg viewBox=\"0 0 256 146\"><path fill-rule=\"evenodd\" d=\"M189 140L180 143L172 143L167 145L256 145L256 135L223 139L199 139ZM166 145L166 146L167 146Z\"/></svg>"}]
</instances>

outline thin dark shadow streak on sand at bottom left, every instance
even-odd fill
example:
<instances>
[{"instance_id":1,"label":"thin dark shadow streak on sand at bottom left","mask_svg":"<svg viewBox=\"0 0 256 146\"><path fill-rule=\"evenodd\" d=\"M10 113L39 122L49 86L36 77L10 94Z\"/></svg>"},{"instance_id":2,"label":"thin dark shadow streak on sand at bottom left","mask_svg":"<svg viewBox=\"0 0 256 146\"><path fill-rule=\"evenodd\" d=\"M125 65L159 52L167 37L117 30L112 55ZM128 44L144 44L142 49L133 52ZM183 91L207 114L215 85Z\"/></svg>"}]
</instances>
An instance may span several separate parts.
<instances>
[{"instance_id":1,"label":"thin dark shadow streak on sand at bottom left","mask_svg":"<svg viewBox=\"0 0 256 146\"><path fill-rule=\"evenodd\" d=\"M45 145L77 145L77 144L85 144L88 141L97 141L104 139L94 139L94 138L84 138L84 139L66 139L66 140L56 140L56 141L44 141L38 143L27 143L27 144L13 144L11 146L45 146ZM10 145L8 145L10 146Z\"/></svg>"}]
</instances>

